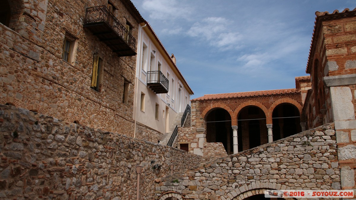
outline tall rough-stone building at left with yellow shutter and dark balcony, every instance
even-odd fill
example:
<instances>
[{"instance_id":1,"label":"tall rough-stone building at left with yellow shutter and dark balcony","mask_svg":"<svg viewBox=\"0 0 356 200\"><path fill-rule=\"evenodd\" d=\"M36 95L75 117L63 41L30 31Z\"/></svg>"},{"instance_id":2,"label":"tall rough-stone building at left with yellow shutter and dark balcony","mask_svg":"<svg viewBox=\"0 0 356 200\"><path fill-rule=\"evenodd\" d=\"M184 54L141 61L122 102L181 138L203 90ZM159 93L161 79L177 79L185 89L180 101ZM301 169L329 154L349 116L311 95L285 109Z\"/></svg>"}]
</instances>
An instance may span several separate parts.
<instances>
[{"instance_id":1,"label":"tall rough-stone building at left with yellow shutter and dark balcony","mask_svg":"<svg viewBox=\"0 0 356 200\"><path fill-rule=\"evenodd\" d=\"M1 104L134 136L144 20L131 1L4 0L1 9Z\"/></svg>"}]
</instances>

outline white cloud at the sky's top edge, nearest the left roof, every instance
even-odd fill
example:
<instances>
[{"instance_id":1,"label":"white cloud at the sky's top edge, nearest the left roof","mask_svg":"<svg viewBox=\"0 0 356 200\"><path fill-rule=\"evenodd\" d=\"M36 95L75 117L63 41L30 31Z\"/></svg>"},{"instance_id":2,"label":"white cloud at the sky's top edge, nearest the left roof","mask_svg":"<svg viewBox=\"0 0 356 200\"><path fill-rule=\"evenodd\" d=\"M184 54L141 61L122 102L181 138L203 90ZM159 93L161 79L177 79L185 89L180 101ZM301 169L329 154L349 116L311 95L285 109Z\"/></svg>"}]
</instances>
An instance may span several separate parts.
<instances>
[{"instance_id":1,"label":"white cloud at the sky's top edge, nearest the left roof","mask_svg":"<svg viewBox=\"0 0 356 200\"><path fill-rule=\"evenodd\" d=\"M142 3L143 9L150 12L152 19L174 19L187 17L192 9L180 4L176 0L145 0Z\"/></svg>"}]
</instances>

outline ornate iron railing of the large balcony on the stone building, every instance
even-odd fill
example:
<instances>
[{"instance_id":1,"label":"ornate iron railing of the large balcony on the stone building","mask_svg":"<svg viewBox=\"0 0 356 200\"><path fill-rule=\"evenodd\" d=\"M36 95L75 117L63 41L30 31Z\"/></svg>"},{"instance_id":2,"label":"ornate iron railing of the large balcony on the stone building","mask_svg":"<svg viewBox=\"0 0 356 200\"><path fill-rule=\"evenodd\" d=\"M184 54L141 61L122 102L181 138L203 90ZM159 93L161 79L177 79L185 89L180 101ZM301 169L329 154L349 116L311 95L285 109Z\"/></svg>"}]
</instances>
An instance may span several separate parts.
<instances>
[{"instance_id":1,"label":"ornate iron railing of the large balcony on the stone building","mask_svg":"<svg viewBox=\"0 0 356 200\"><path fill-rule=\"evenodd\" d=\"M87 8L84 24L105 22L118 36L124 40L133 51L136 51L136 39L132 34L116 19L106 6L95 6Z\"/></svg>"}]
</instances>

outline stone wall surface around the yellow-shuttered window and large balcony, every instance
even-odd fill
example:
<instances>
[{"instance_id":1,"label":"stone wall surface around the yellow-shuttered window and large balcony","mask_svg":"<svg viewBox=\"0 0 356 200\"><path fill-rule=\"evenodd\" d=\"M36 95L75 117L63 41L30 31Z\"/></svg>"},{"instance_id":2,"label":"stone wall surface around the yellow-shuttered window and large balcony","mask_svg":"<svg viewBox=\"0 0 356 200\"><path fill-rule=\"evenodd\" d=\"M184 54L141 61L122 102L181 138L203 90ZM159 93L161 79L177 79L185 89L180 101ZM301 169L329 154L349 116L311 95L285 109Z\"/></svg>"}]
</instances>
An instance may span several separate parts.
<instances>
[{"instance_id":1,"label":"stone wall surface around the yellow-shuttered window and large balcony","mask_svg":"<svg viewBox=\"0 0 356 200\"><path fill-rule=\"evenodd\" d=\"M133 137L136 56L117 57L83 28L86 8L107 3L22 2L20 10L25 10L22 14L30 18L23 18L21 23L26 26L14 24L20 29L10 26L11 30L0 25L0 103ZM124 25L129 21L132 35L137 38L138 22L120 0L111 3L116 7L114 15ZM21 31L21 27L28 30ZM75 42L66 62L62 60L62 48L68 35ZM94 54L103 60L99 92L90 88ZM124 81L129 83L127 103L122 103Z\"/></svg>"}]
</instances>

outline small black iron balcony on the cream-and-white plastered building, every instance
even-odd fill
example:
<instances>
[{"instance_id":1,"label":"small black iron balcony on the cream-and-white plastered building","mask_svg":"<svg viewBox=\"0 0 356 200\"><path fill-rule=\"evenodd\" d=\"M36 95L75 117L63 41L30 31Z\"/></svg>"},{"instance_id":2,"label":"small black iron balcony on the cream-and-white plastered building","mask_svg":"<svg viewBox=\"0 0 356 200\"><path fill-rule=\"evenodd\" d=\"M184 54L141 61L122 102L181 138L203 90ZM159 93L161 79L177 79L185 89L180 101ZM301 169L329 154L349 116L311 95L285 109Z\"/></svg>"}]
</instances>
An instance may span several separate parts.
<instances>
[{"instance_id":1,"label":"small black iron balcony on the cream-and-white plastered building","mask_svg":"<svg viewBox=\"0 0 356 200\"><path fill-rule=\"evenodd\" d=\"M147 86L156 94L168 93L168 79L161 71L147 72Z\"/></svg>"}]
</instances>

